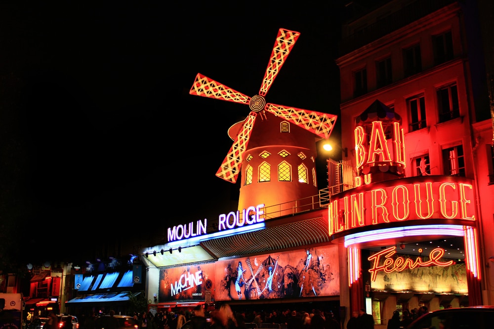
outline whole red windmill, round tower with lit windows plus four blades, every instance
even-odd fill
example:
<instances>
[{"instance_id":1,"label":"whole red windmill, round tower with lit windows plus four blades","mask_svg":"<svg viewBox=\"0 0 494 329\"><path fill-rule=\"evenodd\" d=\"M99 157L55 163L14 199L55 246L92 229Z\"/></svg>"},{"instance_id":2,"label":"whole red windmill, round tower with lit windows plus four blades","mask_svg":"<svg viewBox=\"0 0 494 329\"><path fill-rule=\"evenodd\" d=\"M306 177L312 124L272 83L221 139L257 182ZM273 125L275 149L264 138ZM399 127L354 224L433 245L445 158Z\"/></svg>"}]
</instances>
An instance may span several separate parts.
<instances>
[{"instance_id":1,"label":"whole red windmill, round tower with lit windows plus four blades","mask_svg":"<svg viewBox=\"0 0 494 329\"><path fill-rule=\"evenodd\" d=\"M233 145L216 176L236 183L239 210L265 205L265 218L288 215L318 194L316 141L328 138L336 115L266 103L264 98L299 37L280 29L259 94L244 95L198 73L191 95L243 103L250 113L228 130Z\"/></svg>"}]
</instances>

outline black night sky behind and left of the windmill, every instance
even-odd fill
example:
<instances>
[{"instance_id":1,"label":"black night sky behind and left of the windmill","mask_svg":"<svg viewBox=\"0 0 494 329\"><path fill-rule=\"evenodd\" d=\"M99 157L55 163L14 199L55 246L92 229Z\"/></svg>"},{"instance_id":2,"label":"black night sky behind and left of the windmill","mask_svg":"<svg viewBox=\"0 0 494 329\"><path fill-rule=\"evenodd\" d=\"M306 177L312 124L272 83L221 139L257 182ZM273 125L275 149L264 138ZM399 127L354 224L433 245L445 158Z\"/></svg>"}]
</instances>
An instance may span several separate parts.
<instances>
[{"instance_id":1,"label":"black night sky behind and left of the windmill","mask_svg":"<svg viewBox=\"0 0 494 329\"><path fill-rule=\"evenodd\" d=\"M256 95L280 28L301 35L267 102L339 114L344 1L78 2L0 4L0 207L18 252L236 210L239 182L215 173L248 106L189 90L202 73Z\"/></svg>"}]
</instances>

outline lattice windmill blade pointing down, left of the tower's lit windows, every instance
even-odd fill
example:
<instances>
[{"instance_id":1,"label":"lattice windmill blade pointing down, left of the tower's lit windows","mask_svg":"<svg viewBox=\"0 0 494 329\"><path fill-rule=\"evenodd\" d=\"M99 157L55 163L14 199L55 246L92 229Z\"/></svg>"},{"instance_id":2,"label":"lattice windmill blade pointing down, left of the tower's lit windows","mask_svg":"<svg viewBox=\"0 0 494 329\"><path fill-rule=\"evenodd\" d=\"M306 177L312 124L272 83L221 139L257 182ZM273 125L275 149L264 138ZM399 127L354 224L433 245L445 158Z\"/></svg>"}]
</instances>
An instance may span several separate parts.
<instances>
[{"instance_id":1,"label":"lattice windmill blade pointing down, left of the tower's lit windows","mask_svg":"<svg viewBox=\"0 0 494 329\"><path fill-rule=\"evenodd\" d=\"M242 167L242 156L247 149L248 140L250 138L250 133L252 132L256 115L255 112L250 112L245 119L237 139L233 142L230 151L216 173L216 176L219 178L231 183L237 182L237 177L239 176Z\"/></svg>"}]
</instances>

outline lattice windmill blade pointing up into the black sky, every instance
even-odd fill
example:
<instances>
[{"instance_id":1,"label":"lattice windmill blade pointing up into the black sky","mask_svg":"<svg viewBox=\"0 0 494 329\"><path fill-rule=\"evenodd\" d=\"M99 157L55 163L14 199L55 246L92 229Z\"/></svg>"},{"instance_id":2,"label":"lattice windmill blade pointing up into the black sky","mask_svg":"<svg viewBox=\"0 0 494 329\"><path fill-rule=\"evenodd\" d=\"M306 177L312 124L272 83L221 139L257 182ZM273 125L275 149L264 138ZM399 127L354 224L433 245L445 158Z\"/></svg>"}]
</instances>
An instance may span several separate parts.
<instances>
[{"instance_id":1,"label":"lattice windmill blade pointing up into the black sky","mask_svg":"<svg viewBox=\"0 0 494 329\"><path fill-rule=\"evenodd\" d=\"M264 73L261 89L259 89L259 95L266 96L276 75L278 75L281 67L285 64L288 54L297 41L298 36L300 36L300 33L298 32L284 29L278 31L278 36L276 37L275 45L271 52L268 67L266 73Z\"/></svg>"}]
</instances>

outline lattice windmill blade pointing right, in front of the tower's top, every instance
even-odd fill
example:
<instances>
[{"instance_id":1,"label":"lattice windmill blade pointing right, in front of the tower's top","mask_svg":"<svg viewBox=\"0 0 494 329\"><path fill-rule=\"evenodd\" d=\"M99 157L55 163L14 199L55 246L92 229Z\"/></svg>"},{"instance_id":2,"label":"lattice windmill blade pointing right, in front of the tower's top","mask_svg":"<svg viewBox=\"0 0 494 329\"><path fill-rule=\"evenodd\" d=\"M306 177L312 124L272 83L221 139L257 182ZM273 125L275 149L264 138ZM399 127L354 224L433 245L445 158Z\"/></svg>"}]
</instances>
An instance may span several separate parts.
<instances>
[{"instance_id":1,"label":"lattice windmill blade pointing right, in front of the tower's top","mask_svg":"<svg viewBox=\"0 0 494 329\"><path fill-rule=\"evenodd\" d=\"M290 108L283 105L266 104L265 110L302 127L321 138L328 138L334 127L336 115L323 112Z\"/></svg>"}]
</instances>

